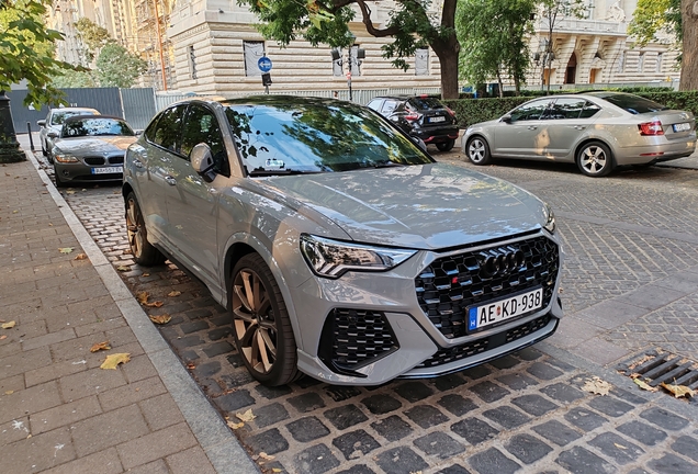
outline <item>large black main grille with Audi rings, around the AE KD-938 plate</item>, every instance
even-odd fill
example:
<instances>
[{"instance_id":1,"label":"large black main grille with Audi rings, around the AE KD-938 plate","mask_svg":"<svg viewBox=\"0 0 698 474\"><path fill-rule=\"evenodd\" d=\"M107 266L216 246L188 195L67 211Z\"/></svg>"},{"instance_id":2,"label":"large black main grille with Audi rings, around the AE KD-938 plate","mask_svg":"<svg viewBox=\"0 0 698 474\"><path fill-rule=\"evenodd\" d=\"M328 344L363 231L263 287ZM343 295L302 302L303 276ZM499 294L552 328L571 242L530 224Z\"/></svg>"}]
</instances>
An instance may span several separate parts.
<instances>
[{"instance_id":1,"label":"large black main grille with Audi rings, around the AE KD-938 plate","mask_svg":"<svg viewBox=\"0 0 698 474\"><path fill-rule=\"evenodd\" d=\"M503 271L486 267L492 255L515 255L518 260ZM543 305L550 304L558 272L558 245L545 236L486 249L464 251L435 260L415 279L419 306L447 338L468 334L468 308L542 286Z\"/></svg>"}]
</instances>

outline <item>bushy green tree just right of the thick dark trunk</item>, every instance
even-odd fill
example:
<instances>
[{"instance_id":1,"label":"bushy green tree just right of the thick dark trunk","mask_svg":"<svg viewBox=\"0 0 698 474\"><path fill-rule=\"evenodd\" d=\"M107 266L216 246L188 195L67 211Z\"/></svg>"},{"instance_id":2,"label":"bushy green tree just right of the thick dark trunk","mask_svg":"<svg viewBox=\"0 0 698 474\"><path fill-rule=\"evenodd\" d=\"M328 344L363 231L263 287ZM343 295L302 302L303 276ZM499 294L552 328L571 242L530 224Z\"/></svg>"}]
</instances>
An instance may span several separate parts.
<instances>
[{"instance_id":1,"label":"bushy green tree just right of the thick dark trunk","mask_svg":"<svg viewBox=\"0 0 698 474\"><path fill-rule=\"evenodd\" d=\"M461 0L455 13L460 76L472 83L496 77L502 97L506 75L518 94L530 63L526 36L533 31L534 9L536 0Z\"/></svg>"}]
</instances>

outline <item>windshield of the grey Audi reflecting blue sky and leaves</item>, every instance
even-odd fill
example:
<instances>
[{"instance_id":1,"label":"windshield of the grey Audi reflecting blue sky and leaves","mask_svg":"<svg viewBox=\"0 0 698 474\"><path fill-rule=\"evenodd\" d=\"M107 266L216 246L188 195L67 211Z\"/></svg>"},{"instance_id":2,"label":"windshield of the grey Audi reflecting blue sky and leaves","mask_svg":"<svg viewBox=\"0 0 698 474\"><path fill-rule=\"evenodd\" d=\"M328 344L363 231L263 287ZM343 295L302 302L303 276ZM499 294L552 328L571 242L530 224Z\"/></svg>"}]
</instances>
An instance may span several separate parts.
<instances>
[{"instance_id":1,"label":"windshield of the grey Audi reflecting blue sky and leaves","mask_svg":"<svg viewBox=\"0 0 698 474\"><path fill-rule=\"evenodd\" d=\"M434 162L374 112L349 103L269 99L225 113L251 176Z\"/></svg>"}]
</instances>

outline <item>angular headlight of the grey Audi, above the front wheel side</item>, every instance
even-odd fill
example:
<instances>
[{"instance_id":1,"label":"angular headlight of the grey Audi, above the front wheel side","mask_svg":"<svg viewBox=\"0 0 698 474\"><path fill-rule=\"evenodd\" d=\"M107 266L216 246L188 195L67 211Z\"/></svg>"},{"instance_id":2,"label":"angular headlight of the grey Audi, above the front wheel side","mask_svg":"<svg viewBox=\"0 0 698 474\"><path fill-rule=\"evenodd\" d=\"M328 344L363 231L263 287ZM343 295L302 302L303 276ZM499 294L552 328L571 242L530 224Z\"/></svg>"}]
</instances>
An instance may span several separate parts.
<instances>
[{"instance_id":1,"label":"angular headlight of the grey Audi, above the front wheel side","mask_svg":"<svg viewBox=\"0 0 698 474\"><path fill-rule=\"evenodd\" d=\"M308 234L301 235L301 251L311 269L327 278L339 278L349 270L390 270L417 252L336 241Z\"/></svg>"}]
</instances>

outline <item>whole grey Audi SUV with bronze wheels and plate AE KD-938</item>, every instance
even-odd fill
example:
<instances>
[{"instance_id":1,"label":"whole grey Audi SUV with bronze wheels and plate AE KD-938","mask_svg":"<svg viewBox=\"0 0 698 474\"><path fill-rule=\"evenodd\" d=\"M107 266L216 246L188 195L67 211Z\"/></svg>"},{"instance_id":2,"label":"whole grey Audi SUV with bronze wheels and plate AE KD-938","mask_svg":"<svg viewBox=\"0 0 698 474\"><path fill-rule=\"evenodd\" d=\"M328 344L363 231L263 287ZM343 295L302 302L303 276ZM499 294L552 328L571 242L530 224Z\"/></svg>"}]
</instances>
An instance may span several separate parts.
<instances>
[{"instance_id":1,"label":"whole grey Audi SUV with bronze wheels and plate AE KD-938","mask_svg":"<svg viewBox=\"0 0 698 474\"><path fill-rule=\"evenodd\" d=\"M551 210L348 102L173 104L128 148L123 196L135 261L198 276L268 385L460 371L562 317Z\"/></svg>"}]
</instances>

